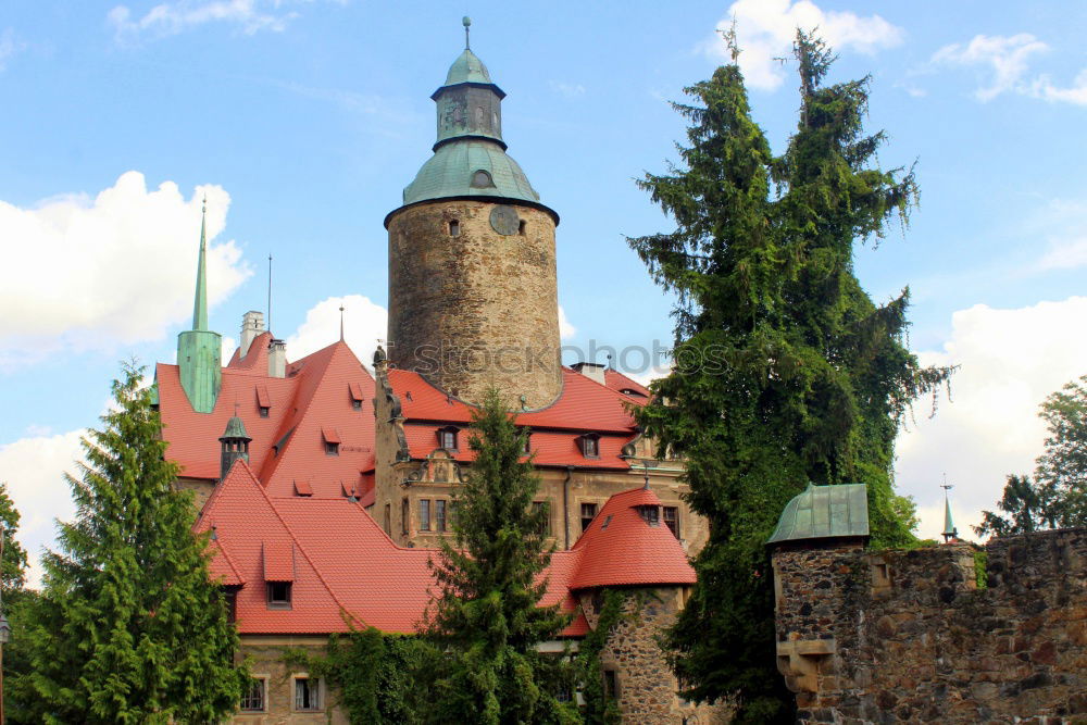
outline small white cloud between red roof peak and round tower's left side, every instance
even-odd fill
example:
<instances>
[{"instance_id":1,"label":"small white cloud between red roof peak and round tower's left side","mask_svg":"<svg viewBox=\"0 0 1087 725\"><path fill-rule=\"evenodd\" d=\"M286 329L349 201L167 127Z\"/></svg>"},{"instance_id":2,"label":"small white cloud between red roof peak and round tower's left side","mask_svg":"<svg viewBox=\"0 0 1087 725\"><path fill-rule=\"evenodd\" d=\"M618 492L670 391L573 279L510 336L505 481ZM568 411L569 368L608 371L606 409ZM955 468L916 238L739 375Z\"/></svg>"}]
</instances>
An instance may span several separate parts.
<instances>
[{"instance_id":1,"label":"small white cloud between red roof peak and round tower's left side","mask_svg":"<svg viewBox=\"0 0 1087 725\"><path fill-rule=\"evenodd\" d=\"M367 367L378 340L388 334L388 311L362 295L329 297L305 313L303 322L287 338L287 359L298 360L339 339L340 305L343 307L343 341Z\"/></svg>"}]
</instances>

